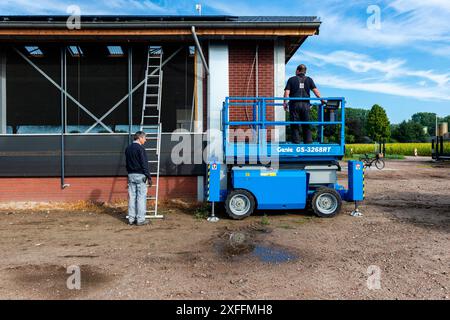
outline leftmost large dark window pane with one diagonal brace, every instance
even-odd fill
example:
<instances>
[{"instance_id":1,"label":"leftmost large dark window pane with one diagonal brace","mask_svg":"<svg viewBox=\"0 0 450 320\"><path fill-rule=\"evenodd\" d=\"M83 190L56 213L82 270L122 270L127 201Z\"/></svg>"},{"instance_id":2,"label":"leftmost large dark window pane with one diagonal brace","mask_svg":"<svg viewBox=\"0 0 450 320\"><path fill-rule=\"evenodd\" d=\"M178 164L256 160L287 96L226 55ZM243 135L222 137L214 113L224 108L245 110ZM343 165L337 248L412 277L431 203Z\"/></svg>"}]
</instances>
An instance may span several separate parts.
<instances>
[{"instance_id":1,"label":"leftmost large dark window pane with one diagonal brace","mask_svg":"<svg viewBox=\"0 0 450 320\"><path fill-rule=\"evenodd\" d=\"M60 49L54 46L18 46L27 59L60 83ZM61 95L15 51L6 50L7 131L14 134L61 132Z\"/></svg>"}]
</instances>

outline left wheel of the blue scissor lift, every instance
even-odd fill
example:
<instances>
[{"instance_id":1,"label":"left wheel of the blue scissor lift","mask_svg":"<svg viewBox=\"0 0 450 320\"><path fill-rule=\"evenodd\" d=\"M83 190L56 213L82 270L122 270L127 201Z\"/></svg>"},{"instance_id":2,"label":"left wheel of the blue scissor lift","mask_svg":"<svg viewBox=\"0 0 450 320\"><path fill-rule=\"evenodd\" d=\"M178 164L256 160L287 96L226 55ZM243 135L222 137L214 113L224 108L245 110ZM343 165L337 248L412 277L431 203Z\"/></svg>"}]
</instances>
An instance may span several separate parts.
<instances>
[{"instance_id":1,"label":"left wheel of the blue scissor lift","mask_svg":"<svg viewBox=\"0 0 450 320\"><path fill-rule=\"evenodd\" d=\"M242 220L255 210L255 197L246 190L233 190L225 201L225 209L231 218Z\"/></svg>"}]
</instances>

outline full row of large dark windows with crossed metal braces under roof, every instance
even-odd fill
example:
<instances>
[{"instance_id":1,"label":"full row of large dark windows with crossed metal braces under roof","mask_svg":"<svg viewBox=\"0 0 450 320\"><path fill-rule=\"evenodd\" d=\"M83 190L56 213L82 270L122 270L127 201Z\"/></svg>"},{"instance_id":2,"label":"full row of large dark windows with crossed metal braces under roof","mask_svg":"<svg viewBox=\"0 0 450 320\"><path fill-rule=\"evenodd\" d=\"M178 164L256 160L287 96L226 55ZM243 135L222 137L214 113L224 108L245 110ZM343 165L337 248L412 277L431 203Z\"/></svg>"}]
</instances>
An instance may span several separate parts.
<instances>
[{"instance_id":1,"label":"full row of large dark windows with crossed metal braces under roof","mask_svg":"<svg viewBox=\"0 0 450 320\"><path fill-rule=\"evenodd\" d=\"M63 128L68 134L138 130L144 86L131 96L130 117L127 98L130 89L129 48L126 44L97 42L68 43L63 47L59 44L8 46L6 133L60 134ZM132 88L145 78L147 49L146 44L131 46ZM171 58L163 68L163 131L179 128L192 131L195 49L188 44L173 44L164 45L163 52L163 60ZM62 75L64 70L65 76ZM60 89L46 76L56 84L62 84L72 99L68 96L62 99Z\"/></svg>"}]
</instances>

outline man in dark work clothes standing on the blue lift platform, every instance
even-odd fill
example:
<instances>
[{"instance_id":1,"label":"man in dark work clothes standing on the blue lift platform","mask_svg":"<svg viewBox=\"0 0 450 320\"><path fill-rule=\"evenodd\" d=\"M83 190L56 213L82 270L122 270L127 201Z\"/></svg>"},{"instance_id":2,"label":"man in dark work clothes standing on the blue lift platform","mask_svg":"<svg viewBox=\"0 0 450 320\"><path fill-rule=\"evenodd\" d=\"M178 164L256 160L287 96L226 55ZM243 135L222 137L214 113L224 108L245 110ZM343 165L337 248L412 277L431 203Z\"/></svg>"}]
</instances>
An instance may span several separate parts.
<instances>
[{"instance_id":1,"label":"man in dark work clothes standing on the blue lift platform","mask_svg":"<svg viewBox=\"0 0 450 320\"><path fill-rule=\"evenodd\" d=\"M285 98L309 98L310 91L314 92L317 98L320 98L320 92L317 89L313 79L306 76L306 66L301 64L297 67L296 76L288 80L284 89ZM324 103L324 101L322 101ZM289 101L290 121L309 121L309 110L311 104L309 101ZM288 110L288 104L284 102L284 110ZM302 124L303 143L312 143L311 126ZM291 124L292 143L300 144L300 129L298 124Z\"/></svg>"}]
</instances>

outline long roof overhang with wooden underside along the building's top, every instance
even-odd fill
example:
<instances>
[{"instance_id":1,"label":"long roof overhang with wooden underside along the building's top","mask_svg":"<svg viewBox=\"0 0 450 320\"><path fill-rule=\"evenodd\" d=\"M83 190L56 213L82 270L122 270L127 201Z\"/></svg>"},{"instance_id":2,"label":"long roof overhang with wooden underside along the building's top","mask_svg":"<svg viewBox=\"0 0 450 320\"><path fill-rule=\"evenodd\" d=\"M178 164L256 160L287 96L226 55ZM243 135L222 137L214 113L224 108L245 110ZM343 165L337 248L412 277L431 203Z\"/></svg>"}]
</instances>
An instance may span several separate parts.
<instances>
[{"instance_id":1,"label":"long roof overhang with wooden underside along the building's top","mask_svg":"<svg viewBox=\"0 0 450 320\"><path fill-rule=\"evenodd\" d=\"M69 29L68 16L0 16L0 41L192 41L286 39L288 59L309 36L317 35L317 17L233 16L82 16L79 29ZM73 22L73 21L72 21Z\"/></svg>"}]
</instances>

